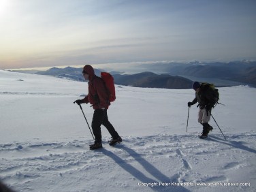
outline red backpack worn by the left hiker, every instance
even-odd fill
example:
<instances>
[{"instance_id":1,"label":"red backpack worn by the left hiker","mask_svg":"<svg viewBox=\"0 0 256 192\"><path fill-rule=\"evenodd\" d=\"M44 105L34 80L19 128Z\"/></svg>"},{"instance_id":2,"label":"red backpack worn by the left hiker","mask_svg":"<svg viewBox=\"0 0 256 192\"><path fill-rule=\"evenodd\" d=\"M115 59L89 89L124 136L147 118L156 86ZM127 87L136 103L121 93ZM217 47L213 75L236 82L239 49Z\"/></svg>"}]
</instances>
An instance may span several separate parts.
<instances>
[{"instance_id":1,"label":"red backpack worn by the left hiker","mask_svg":"<svg viewBox=\"0 0 256 192\"><path fill-rule=\"evenodd\" d=\"M101 79L105 83L106 89L108 90L108 97L110 102L113 102L116 99L113 76L107 72L101 72Z\"/></svg>"}]
</instances>

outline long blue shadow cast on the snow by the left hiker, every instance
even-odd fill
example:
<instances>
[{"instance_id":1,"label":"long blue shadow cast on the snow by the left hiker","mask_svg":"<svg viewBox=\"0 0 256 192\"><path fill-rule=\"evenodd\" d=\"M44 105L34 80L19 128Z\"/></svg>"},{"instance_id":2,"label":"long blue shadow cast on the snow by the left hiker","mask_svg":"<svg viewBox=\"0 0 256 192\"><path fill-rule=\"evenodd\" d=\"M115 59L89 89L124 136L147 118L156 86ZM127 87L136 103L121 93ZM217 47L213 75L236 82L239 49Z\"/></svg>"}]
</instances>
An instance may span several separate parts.
<instances>
[{"instance_id":1,"label":"long blue shadow cast on the snow by the left hiker","mask_svg":"<svg viewBox=\"0 0 256 192\"><path fill-rule=\"evenodd\" d=\"M128 148L127 146L121 146L120 148L122 148L127 153L129 153L129 155L131 155L131 157L133 157L136 161L138 161L138 163L140 163L140 165L142 165L142 167L144 167L144 169L149 174L151 174L153 177L157 178L157 180L148 178L140 170L133 167L129 163L125 162L125 160L121 159L120 157L118 157L117 155L112 153L111 151L106 150L106 148L102 148L101 151L104 155L107 155L108 157L112 158L120 167L122 167L129 174L131 174L132 176L134 176L135 178L140 180L140 182L157 183L157 184L159 184L159 182L166 182L166 183L178 182L178 180L176 178L176 174L174 174L174 176L172 176L172 180L170 180L170 178L168 178L167 176L162 174L159 170L157 170L156 167L154 167L153 165L148 163L148 161L146 161L146 159L144 159L140 154L136 153L135 150L132 150L131 148ZM185 187L182 187L182 186L176 186L176 187L174 187L175 189L171 189L171 187L172 186L169 186L169 187L154 186L154 187L150 187L150 189L152 189L153 191L170 191L170 190L175 190L175 191L180 191L180 192L181 191L182 192L189 191L188 189L186 189Z\"/></svg>"}]
</instances>

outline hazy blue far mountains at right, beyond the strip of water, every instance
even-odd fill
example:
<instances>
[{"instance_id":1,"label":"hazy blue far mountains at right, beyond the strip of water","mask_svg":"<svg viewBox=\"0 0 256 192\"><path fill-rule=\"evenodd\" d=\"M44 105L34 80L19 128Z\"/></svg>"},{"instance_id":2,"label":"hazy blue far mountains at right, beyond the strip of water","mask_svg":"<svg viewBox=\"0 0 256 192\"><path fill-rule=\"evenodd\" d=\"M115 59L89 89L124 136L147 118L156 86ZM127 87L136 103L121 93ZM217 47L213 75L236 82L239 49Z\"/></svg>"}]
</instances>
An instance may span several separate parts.
<instances>
[{"instance_id":1,"label":"hazy blue far mountains at right, beyond the strip of water","mask_svg":"<svg viewBox=\"0 0 256 192\"><path fill-rule=\"evenodd\" d=\"M146 64L142 64L146 65ZM142 65L140 67L142 67ZM215 78L242 82L256 86L256 61L190 62L190 63L154 63L146 65L149 71L175 76L191 76L197 78Z\"/></svg>"}]
</instances>

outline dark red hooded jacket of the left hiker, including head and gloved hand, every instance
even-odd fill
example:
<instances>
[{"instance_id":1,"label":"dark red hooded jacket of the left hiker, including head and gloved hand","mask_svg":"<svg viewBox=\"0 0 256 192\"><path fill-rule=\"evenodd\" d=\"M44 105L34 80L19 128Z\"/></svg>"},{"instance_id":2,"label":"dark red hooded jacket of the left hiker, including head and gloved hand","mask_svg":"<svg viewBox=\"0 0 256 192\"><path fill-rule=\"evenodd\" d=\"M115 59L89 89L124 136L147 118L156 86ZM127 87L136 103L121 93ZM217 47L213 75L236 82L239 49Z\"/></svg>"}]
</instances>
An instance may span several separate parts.
<instances>
[{"instance_id":1,"label":"dark red hooded jacket of the left hiker, including head and gloved hand","mask_svg":"<svg viewBox=\"0 0 256 192\"><path fill-rule=\"evenodd\" d=\"M91 103L93 109L108 109L110 105L106 86L101 78L95 76L91 65L85 65L84 71L89 74L88 95L84 97L84 103Z\"/></svg>"}]
</instances>

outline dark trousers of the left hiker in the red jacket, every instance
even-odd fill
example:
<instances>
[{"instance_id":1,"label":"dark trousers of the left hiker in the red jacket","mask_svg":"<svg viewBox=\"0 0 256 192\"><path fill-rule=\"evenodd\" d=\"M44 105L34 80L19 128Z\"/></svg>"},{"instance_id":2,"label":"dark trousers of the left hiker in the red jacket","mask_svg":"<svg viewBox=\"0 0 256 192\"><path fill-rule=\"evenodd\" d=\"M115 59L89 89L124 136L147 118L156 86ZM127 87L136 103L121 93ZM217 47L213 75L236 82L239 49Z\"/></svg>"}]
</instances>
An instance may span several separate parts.
<instances>
[{"instance_id":1,"label":"dark trousers of the left hiker in the red jacket","mask_svg":"<svg viewBox=\"0 0 256 192\"><path fill-rule=\"evenodd\" d=\"M119 137L113 125L108 121L107 110L97 109L94 110L93 122L91 123L91 127L93 128L93 134L95 135L95 142L101 143L101 125L104 125L108 129L108 132L110 132L112 138Z\"/></svg>"}]
</instances>

